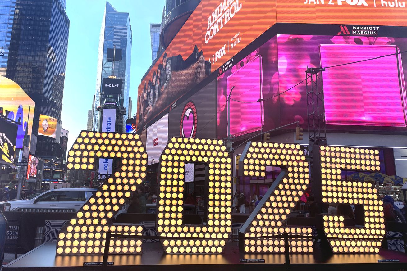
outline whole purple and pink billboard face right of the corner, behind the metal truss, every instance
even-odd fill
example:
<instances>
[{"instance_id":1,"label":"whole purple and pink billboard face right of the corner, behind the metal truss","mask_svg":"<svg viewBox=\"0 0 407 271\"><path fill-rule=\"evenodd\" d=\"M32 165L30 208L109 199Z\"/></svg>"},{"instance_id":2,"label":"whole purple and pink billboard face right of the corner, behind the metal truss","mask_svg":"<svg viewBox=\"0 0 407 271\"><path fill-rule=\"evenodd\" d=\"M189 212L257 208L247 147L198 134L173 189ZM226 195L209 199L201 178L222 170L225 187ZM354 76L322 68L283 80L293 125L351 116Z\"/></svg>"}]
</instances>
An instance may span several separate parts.
<instances>
[{"instance_id":1,"label":"whole purple and pink billboard face right of the corner, behind the metal truss","mask_svg":"<svg viewBox=\"0 0 407 271\"><path fill-rule=\"evenodd\" d=\"M296 120L307 125L305 82L284 91L304 80L306 67L332 67L322 72L328 130L405 130L407 58L396 53L407 50L406 42L398 37L278 35L279 80L273 87L274 95L280 94L281 125Z\"/></svg>"}]
</instances>

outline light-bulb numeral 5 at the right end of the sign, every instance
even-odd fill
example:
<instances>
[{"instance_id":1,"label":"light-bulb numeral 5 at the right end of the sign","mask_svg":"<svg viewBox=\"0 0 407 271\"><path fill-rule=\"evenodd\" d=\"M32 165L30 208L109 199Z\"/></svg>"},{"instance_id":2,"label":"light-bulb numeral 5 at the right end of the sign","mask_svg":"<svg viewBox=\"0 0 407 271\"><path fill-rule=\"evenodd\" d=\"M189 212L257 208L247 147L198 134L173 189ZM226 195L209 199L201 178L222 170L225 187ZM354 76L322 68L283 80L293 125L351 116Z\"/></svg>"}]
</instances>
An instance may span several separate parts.
<instances>
[{"instance_id":1,"label":"light-bulb numeral 5 at the right end of the sign","mask_svg":"<svg viewBox=\"0 0 407 271\"><path fill-rule=\"evenodd\" d=\"M341 215L323 216L330 247L334 253L378 253L385 235L383 201L372 181L342 180L341 171L379 171L379 151L320 146L319 154L322 202L363 205L363 227L345 226Z\"/></svg>"}]
</instances>

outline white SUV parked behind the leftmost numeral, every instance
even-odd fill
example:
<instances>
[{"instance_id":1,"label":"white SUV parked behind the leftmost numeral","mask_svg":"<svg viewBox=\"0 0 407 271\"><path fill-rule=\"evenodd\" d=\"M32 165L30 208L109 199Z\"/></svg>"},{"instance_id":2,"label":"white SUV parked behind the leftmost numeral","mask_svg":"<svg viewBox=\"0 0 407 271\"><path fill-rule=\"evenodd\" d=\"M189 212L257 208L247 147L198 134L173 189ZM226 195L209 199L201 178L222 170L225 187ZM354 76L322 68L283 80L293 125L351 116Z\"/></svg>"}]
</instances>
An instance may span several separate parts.
<instances>
[{"instance_id":1,"label":"white SUV parked behind the leftmost numeral","mask_svg":"<svg viewBox=\"0 0 407 271\"><path fill-rule=\"evenodd\" d=\"M48 190L33 199L22 199L4 203L4 210L16 211L18 208L35 209L76 209L77 211L97 191L91 188L61 188Z\"/></svg>"}]
</instances>

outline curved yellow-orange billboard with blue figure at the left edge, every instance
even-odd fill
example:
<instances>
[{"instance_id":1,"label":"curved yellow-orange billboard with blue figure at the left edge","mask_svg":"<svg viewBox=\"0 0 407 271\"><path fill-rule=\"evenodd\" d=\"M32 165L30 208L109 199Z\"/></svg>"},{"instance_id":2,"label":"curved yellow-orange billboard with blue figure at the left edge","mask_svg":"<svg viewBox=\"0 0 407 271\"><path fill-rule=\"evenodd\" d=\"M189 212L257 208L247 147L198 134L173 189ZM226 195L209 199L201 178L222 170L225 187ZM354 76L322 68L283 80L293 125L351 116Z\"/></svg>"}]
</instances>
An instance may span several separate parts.
<instances>
[{"instance_id":1,"label":"curved yellow-orange billboard with blue figure at the left edge","mask_svg":"<svg viewBox=\"0 0 407 271\"><path fill-rule=\"evenodd\" d=\"M0 76L0 97L0 114L20 123L15 148L22 149L27 126L31 136L35 103L17 83L4 76Z\"/></svg>"}]
</instances>

